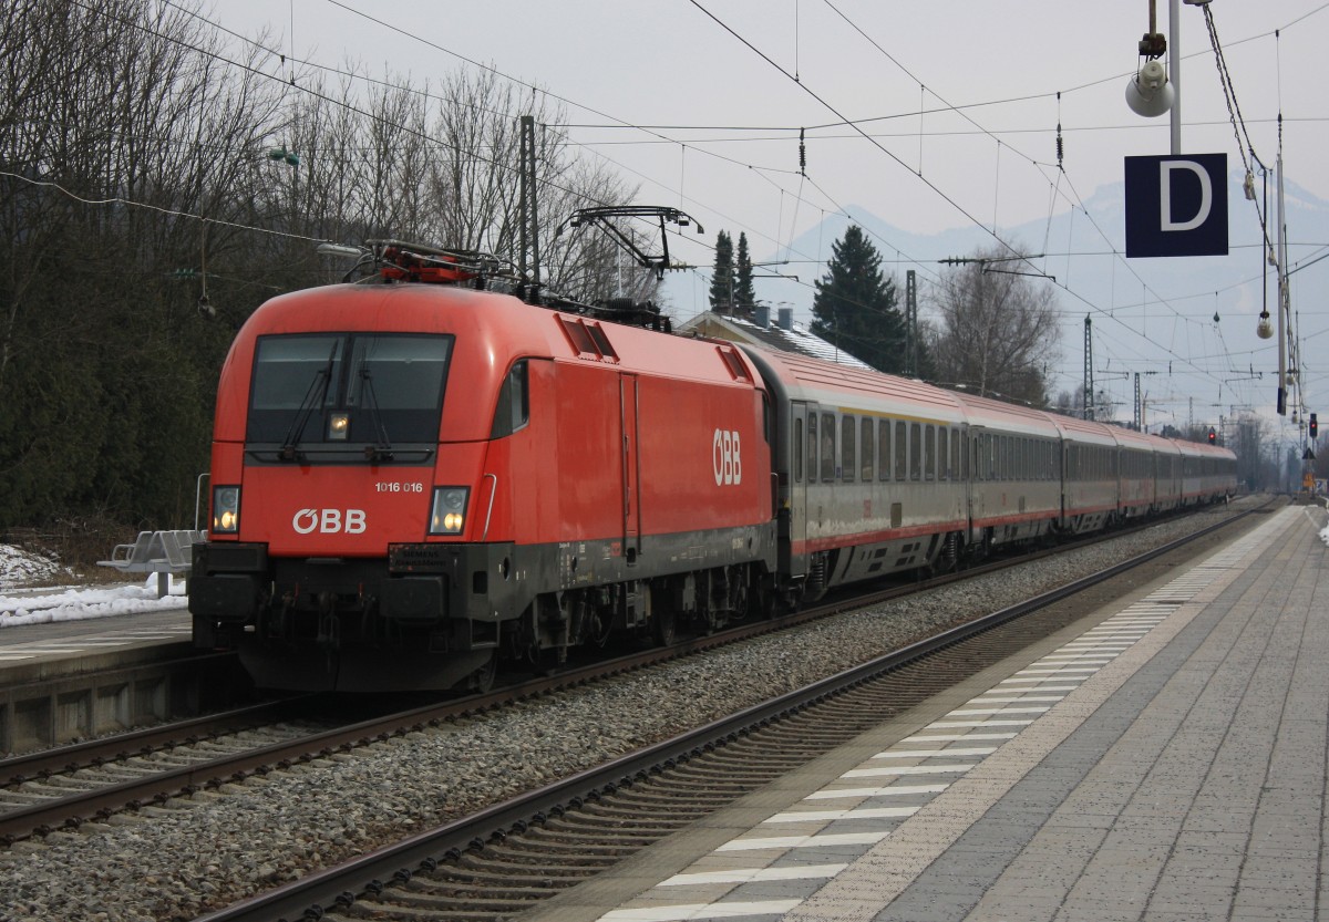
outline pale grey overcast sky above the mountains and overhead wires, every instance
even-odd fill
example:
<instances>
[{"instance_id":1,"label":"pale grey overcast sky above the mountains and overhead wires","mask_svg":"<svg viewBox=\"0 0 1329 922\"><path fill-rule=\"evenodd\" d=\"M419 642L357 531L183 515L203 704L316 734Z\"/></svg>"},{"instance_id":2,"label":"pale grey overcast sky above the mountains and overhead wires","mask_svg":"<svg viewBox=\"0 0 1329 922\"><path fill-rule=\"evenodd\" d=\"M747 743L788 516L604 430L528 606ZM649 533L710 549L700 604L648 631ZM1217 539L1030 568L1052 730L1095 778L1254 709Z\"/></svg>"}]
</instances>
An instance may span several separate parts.
<instances>
[{"instance_id":1,"label":"pale grey overcast sky above the mountains and overhead wires","mask_svg":"<svg viewBox=\"0 0 1329 922\"><path fill-rule=\"evenodd\" d=\"M1167 0L1158 7L1167 35ZM1181 151L1227 153L1236 170L1248 136L1260 161L1272 167L1281 149L1289 182L1329 199L1329 3L1213 0L1211 11L1243 141L1204 13L1183 4ZM537 85L563 105L573 142L639 185L638 203L682 207L706 226L706 244L719 229L743 231L766 259L847 207L914 234L977 225L1002 235L1122 182L1127 155L1168 153L1170 117L1142 118L1123 98L1148 13L1148 0L226 0L210 17L247 36L266 31L295 57L355 60L379 77L423 82L482 65ZM836 125L844 120L872 121L856 130ZM1231 214L1256 226L1245 202ZM1289 236L1294 264L1329 247L1294 225ZM877 244L892 255L890 240ZM1107 246L1096 244L1084 248ZM712 259L695 242L671 251ZM1228 259L1260 275L1255 248ZM1166 272L1164 262L1148 260L1148 271ZM799 274L804 284L820 275ZM1294 278L1305 328L1325 331L1329 259ZM704 279L671 290L680 315L704 307ZM1122 296L1086 294L1107 308ZM1329 336L1304 345L1309 399L1329 404L1312 347L1329 348ZM1082 344L1063 351L1074 367ZM1259 404L1265 391L1241 399Z\"/></svg>"}]
</instances>

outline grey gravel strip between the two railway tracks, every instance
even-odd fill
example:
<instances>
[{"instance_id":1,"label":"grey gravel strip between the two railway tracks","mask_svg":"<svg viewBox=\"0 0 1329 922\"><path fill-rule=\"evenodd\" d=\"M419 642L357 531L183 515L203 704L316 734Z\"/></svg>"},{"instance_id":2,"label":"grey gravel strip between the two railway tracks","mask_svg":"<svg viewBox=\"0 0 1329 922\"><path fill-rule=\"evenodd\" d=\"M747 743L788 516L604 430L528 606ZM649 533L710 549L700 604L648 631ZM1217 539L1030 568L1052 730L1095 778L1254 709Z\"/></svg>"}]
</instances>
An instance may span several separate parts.
<instances>
[{"instance_id":1,"label":"grey gravel strip between the two railway tracks","mask_svg":"<svg viewBox=\"0 0 1329 922\"><path fill-rule=\"evenodd\" d=\"M0 921L194 919L1095 573L1223 514L1155 525L922 598L19 842L0 853L8 881Z\"/></svg>"}]
</instances>

